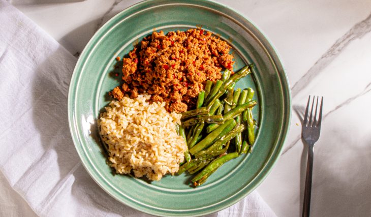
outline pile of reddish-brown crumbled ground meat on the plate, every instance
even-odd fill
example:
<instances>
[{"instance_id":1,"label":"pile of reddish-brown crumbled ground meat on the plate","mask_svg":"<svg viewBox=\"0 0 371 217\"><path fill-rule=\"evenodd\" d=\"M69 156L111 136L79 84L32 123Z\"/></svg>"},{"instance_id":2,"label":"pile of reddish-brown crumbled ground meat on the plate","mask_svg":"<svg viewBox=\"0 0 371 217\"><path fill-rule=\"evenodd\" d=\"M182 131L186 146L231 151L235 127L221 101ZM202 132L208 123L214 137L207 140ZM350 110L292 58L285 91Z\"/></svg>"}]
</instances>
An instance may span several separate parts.
<instances>
[{"instance_id":1,"label":"pile of reddish-brown crumbled ground meat on the plate","mask_svg":"<svg viewBox=\"0 0 371 217\"><path fill-rule=\"evenodd\" d=\"M227 42L203 29L153 32L123 58L121 86L110 95L135 98L146 91L151 100L166 102L166 110L187 111L196 104L206 80L221 78L223 68L233 70Z\"/></svg>"}]
</instances>

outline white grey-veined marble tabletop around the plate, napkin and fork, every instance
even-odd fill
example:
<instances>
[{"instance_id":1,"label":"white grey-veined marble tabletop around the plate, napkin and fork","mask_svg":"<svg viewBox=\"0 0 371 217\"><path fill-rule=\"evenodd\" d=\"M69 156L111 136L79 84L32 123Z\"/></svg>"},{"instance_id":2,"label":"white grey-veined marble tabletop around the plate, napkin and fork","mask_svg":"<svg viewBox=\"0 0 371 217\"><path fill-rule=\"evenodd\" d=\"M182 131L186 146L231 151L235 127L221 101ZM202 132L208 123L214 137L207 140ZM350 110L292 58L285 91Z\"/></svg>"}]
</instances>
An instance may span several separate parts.
<instances>
[{"instance_id":1,"label":"white grey-veined marble tabletop around the plate, napkin and fork","mask_svg":"<svg viewBox=\"0 0 371 217\"><path fill-rule=\"evenodd\" d=\"M137 0L13 0L76 57L96 30ZM371 1L218 1L260 27L282 57L292 91L282 156L258 192L278 216L298 216L306 170L300 116L308 95L324 97L315 145L311 214L371 213ZM370 106L370 107L368 107ZM0 215L36 215L0 174ZM5 215L4 215L5 216Z\"/></svg>"}]
</instances>

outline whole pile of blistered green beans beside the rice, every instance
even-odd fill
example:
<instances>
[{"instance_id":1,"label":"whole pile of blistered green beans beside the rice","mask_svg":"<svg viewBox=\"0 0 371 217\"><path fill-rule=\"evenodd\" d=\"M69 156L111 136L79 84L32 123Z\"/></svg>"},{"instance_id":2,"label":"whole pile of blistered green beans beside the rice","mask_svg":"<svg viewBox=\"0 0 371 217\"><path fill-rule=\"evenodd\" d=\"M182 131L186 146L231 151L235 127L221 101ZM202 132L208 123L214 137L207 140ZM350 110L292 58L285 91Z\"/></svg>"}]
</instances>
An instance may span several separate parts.
<instances>
[{"instance_id":1,"label":"whole pile of blistered green beans beside the rice","mask_svg":"<svg viewBox=\"0 0 371 217\"><path fill-rule=\"evenodd\" d=\"M251 151L256 128L252 112L257 104L254 90L234 90L236 82L250 74L251 69L252 65L246 66L234 74L226 70L221 80L207 80L196 108L182 113L182 125L177 126L177 131L186 139L187 128L189 150L184 153L187 163L180 166L178 174L197 173L192 179L195 187L227 161ZM234 144L231 147L230 142Z\"/></svg>"}]
</instances>

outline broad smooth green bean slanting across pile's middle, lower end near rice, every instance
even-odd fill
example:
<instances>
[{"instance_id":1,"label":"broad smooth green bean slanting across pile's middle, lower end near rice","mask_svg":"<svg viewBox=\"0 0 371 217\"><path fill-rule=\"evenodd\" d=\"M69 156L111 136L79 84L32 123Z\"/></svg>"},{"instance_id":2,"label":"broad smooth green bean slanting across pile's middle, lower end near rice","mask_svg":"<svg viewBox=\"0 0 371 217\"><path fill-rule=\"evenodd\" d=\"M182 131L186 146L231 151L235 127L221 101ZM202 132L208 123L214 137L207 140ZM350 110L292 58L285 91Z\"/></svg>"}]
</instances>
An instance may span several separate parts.
<instances>
[{"instance_id":1,"label":"broad smooth green bean slanting across pile's middle, lower end near rice","mask_svg":"<svg viewBox=\"0 0 371 217\"><path fill-rule=\"evenodd\" d=\"M217 141L220 139L222 136L227 134L229 131L233 129L230 128L230 125L236 124L236 121L234 119L227 120L226 122L223 123L223 125L219 126L216 130L213 132L209 133L203 140L201 140L199 143L197 143L195 146L193 146L190 149L190 152L195 155L197 152L201 151L204 148L207 148L212 144L213 142Z\"/></svg>"}]
</instances>

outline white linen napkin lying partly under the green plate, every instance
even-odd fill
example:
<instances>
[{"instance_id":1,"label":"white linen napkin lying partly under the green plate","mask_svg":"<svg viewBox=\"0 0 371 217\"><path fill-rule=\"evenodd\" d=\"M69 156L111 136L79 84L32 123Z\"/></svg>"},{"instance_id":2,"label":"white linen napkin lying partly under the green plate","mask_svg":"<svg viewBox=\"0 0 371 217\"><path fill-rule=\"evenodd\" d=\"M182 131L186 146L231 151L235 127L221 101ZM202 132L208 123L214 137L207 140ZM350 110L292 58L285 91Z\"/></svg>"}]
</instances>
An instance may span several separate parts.
<instances>
[{"instance_id":1,"label":"white linen napkin lying partly under the green plate","mask_svg":"<svg viewBox=\"0 0 371 217\"><path fill-rule=\"evenodd\" d=\"M110 197L81 165L67 118L76 60L0 0L0 170L40 216L147 216ZM275 216L256 191L217 215Z\"/></svg>"}]
</instances>

